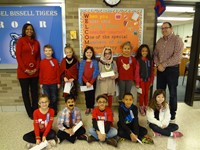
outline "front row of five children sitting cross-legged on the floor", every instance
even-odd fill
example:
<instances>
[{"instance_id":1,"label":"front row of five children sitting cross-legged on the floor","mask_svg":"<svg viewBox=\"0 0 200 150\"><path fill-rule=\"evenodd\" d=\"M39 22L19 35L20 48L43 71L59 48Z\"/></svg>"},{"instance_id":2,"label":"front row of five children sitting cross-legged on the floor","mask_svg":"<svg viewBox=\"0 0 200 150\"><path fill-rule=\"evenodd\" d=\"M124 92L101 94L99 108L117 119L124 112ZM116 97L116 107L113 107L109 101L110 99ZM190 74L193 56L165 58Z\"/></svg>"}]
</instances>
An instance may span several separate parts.
<instances>
[{"instance_id":1,"label":"front row of five children sitting cross-legged on the floor","mask_svg":"<svg viewBox=\"0 0 200 150\"><path fill-rule=\"evenodd\" d=\"M56 146L57 143L64 140L75 143L77 139L85 140L88 143L94 141L106 142L114 147L117 147L118 142L122 139L154 144L153 139L147 135L147 129L139 125L138 108L133 102L133 95L125 93L118 108L118 129L116 129L113 126L113 111L108 107L108 97L98 95L96 98L97 105L92 111L92 127L89 129L90 136L88 136L83 123L77 130L74 130L77 124L83 122L83 120L80 109L75 106L75 97L71 94L67 95L65 108L60 112L57 120L58 132L56 134L52 129L54 110L49 108L48 96L42 95L38 102L40 107L33 114L34 131L25 134L23 139L28 142L27 148L45 140L48 140L49 143L47 148ZM176 131L178 125L170 123L171 116L164 90L158 89L154 92L146 113L153 136L164 135L174 138L183 136L181 132ZM103 124L100 125L99 121Z\"/></svg>"}]
</instances>

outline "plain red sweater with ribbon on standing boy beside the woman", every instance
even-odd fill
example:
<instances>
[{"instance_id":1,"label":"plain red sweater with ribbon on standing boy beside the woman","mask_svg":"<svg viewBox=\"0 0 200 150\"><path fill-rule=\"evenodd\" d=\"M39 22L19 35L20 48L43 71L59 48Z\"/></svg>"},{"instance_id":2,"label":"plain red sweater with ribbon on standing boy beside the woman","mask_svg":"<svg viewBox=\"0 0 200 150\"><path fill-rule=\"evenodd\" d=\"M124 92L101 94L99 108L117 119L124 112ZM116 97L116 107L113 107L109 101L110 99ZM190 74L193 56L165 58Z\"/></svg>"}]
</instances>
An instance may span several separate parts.
<instances>
[{"instance_id":1,"label":"plain red sweater with ribbon on standing boy beside the woman","mask_svg":"<svg viewBox=\"0 0 200 150\"><path fill-rule=\"evenodd\" d=\"M43 59L40 62L40 84L60 84L60 68L58 60Z\"/></svg>"}]
</instances>

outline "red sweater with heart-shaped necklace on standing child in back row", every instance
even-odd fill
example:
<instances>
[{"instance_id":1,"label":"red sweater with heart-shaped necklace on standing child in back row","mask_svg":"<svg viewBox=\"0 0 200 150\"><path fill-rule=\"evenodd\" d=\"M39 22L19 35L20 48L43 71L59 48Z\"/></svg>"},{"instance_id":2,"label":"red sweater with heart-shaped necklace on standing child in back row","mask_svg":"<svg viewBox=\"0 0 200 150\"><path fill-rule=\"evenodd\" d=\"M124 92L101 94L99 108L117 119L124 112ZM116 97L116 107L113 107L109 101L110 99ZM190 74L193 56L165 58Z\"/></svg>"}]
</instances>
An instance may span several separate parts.
<instances>
[{"instance_id":1,"label":"red sweater with heart-shaped necklace on standing child in back row","mask_svg":"<svg viewBox=\"0 0 200 150\"><path fill-rule=\"evenodd\" d=\"M131 58L129 60L129 58ZM129 69L125 69L123 67L123 64L130 65ZM133 56L130 57L124 57L119 56L117 58L117 69L119 73L119 80L135 80L135 66L136 66L136 59Z\"/></svg>"}]
</instances>

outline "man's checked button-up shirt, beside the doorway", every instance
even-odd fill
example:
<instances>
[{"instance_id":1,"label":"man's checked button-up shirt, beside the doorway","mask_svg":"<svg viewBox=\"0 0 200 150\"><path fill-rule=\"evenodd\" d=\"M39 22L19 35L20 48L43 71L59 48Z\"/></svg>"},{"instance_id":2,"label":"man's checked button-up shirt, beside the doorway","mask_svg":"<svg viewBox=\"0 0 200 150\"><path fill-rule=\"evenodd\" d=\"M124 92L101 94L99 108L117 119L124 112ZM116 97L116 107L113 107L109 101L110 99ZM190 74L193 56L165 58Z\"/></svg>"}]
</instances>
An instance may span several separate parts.
<instances>
[{"instance_id":1,"label":"man's checked button-up shirt, beside the doorway","mask_svg":"<svg viewBox=\"0 0 200 150\"><path fill-rule=\"evenodd\" d=\"M160 38L154 50L154 63L165 68L180 64L183 46L182 39L173 33Z\"/></svg>"}]
</instances>

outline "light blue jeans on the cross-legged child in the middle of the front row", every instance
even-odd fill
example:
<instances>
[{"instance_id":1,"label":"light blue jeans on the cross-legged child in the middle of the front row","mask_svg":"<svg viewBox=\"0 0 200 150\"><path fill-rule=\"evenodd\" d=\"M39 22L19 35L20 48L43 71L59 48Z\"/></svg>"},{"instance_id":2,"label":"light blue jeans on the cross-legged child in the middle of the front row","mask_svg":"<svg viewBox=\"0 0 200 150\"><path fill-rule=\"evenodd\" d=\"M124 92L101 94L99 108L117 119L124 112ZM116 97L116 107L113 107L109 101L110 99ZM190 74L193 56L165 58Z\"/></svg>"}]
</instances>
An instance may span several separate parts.
<instances>
[{"instance_id":1,"label":"light blue jeans on the cross-legged child in the middle of the front row","mask_svg":"<svg viewBox=\"0 0 200 150\"><path fill-rule=\"evenodd\" d=\"M89 129L89 133L90 133L96 140L99 140L95 128L90 128L90 129ZM106 139L115 137L116 135L117 135L117 129L111 127L110 130L108 131L108 133L106 134Z\"/></svg>"}]
</instances>

